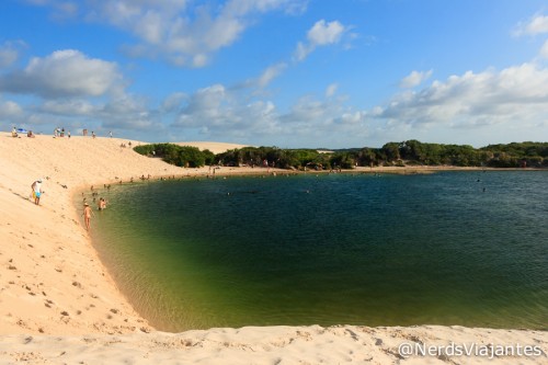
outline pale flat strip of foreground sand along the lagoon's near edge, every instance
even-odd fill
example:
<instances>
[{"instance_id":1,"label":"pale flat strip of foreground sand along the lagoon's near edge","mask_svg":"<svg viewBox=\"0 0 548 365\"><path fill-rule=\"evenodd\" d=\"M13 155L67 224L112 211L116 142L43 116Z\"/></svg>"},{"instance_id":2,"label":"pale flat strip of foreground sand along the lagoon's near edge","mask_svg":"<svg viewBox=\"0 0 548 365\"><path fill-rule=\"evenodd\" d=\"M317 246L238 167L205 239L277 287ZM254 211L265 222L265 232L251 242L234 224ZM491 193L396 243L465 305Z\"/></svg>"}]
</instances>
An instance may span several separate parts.
<instances>
[{"instance_id":1,"label":"pale flat strip of foreground sand along the lagoon's near edge","mask_svg":"<svg viewBox=\"0 0 548 365\"><path fill-rule=\"evenodd\" d=\"M518 344L530 344L532 349L544 346L546 351L546 333L463 327L246 327L126 335L9 335L2 340L0 362L25 361L30 364L547 363L546 357L517 355ZM455 349L466 344L472 353L478 354L491 343L495 346L512 345L515 351L514 355L498 356L494 361L490 360L489 352L484 356L453 356L452 347L447 347L446 353L435 353L436 346L452 342ZM424 344L429 346L424 351L431 351L431 355L406 358L398 353L402 343ZM477 347L472 347L473 344Z\"/></svg>"}]
</instances>

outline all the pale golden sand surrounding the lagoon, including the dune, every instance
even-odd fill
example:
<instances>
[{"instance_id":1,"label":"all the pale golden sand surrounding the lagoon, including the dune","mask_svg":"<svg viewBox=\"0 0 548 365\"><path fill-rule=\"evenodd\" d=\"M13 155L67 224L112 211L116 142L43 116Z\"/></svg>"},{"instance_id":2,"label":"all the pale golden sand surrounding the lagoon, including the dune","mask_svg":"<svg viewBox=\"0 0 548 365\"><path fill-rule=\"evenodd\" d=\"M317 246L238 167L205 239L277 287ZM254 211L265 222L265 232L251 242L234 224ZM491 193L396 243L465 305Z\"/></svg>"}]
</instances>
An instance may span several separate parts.
<instances>
[{"instance_id":1,"label":"all the pale golden sand surrounding the lagoon, including the dune","mask_svg":"<svg viewBox=\"0 0 548 365\"><path fill-rule=\"evenodd\" d=\"M548 332L524 329L341 323L331 328L247 327L183 333L155 330L135 312L99 260L92 246L93 223L91 232L83 226L80 194L92 185L101 190L107 183L129 183L132 178L138 181L141 175L205 175L208 168L169 166L121 147L128 142L91 137L12 138L0 133L1 364L548 363ZM214 152L240 147L182 145ZM265 170L218 171L242 173ZM39 205L31 199L31 184L37 179L43 179L45 191ZM399 351L403 343L437 350L406 357ZM456 347L465 354L455 355ZM488 347L493 353L487 353Z\"/></svg>"}]
</instances>

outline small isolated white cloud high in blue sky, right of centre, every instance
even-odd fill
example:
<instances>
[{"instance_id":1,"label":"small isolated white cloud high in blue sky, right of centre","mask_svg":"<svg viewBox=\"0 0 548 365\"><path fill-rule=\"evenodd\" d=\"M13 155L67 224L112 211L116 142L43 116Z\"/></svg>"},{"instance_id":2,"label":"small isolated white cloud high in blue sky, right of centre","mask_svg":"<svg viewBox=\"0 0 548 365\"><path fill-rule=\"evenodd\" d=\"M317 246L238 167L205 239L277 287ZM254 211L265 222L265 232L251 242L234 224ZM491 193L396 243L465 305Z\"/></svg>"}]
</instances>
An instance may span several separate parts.
<instances>
[{"instance_id":1,"label":"small isolated white cloud high in blue sky, right of centre","mask_svg":"<svg viewBox=\"0 0 548 365\"><path fill-rule=\"evenodd\" d=\"M320 20L307 33L307 42L299 42L295 50L295 58L304 60L310 53L319 46L336 44L341 41L346 27L339 21L327 23Z\"/></svg>"}]
</instances>

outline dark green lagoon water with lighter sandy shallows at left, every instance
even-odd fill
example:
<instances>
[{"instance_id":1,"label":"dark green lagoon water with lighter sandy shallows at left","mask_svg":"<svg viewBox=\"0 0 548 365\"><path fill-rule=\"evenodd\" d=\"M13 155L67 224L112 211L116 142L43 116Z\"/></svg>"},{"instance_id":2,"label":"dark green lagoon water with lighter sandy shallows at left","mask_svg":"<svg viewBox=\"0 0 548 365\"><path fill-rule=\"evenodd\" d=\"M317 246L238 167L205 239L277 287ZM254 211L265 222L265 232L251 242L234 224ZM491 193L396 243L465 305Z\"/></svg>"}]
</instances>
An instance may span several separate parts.
<instances>
[{"instance_id":1,"label":"dark green lagoon water with lighter sandy shallows at left","mask_svg":"<svg viewBox=\"0 0 548 365\"><path fill-rule=\"evenodd\" d=\"M94 244L160 330L548 328L546 171L187 179L103 195Z\"/></svg>"}]
</instances>

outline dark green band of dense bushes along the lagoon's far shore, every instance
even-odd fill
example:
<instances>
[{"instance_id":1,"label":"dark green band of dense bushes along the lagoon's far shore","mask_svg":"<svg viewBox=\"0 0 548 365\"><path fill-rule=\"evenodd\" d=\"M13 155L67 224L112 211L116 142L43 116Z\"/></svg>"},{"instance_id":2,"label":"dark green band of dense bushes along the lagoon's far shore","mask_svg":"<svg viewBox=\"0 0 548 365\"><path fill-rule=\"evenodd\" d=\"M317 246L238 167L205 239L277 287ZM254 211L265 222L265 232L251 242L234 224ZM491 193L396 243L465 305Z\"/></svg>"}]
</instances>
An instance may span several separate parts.
<instances>
[{"instance_id":1,"label":"dark green band of dense bushes along the lagoon's far shore","mask_svg":"<svg viewBox=\"0 0 548 365\"><path fill-rule=\"evenodd\" d=\"M138 146L141 155L161 157L182 167L204 164L275 167L281 169L352 169L377 166L457 166L496 168L548 168L548 142L520 142L473 148L466 145L388 142L381 148L352 148L332 152L316 149L246 147L214 155L195 147L172 144Z\"/></svg>"}]
</instances>

